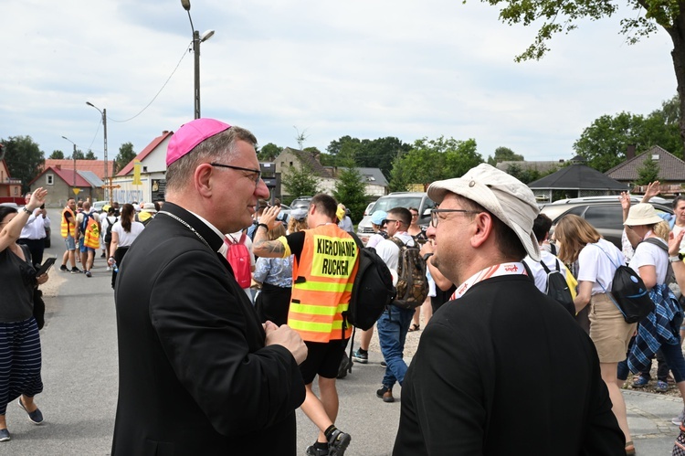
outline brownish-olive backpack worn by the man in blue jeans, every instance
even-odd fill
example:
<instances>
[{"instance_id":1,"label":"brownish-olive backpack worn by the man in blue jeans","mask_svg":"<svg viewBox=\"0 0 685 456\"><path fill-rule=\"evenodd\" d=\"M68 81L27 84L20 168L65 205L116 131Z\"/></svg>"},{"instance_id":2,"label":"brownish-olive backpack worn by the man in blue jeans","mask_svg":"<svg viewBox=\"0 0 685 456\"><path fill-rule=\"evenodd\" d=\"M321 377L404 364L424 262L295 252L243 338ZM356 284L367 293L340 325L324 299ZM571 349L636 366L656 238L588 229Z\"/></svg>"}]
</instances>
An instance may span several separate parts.
<instances>
[{"instance_id":1,"label":"brownish-olive backpack worn by the man in blue jeans","mask_svg":"<svg viewBox=\"0 0 685 456\"><path fill-rule=\"evenodd\" d=\"M428 296L426 261L421 258L421 250L416 245L409 247L395 237L388 240L400 249L395 286L397 296L393 305L402 309L416 309Z\"/></svg>"}]
</instances>

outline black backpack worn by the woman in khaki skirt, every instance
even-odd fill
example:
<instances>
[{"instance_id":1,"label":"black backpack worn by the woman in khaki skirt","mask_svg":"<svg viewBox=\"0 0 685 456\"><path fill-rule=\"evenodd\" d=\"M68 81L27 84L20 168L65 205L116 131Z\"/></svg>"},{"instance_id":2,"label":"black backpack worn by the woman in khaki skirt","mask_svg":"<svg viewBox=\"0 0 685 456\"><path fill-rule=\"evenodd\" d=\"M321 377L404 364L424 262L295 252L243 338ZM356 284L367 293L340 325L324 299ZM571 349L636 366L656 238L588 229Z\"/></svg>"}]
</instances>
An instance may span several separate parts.
<instances>
[{"instance_id":1,"label":"black backpack worn by the woman in khaki skirt","mask_svg":"<svg viewBox=\"0 0 685 456\"><path fill-rule=\"evenodd\" d=\"M605 249L596 244L593 245L605 253L611 264L617 266ZM601 283L599 286L604 289ZM623 264L618 265L616 272L614 272L610 296L613 296L613 301L618 310L623 313L623 319L626 320L626 323L638 323L655 309L654 302L649 298L649 291L645 282L642 281L638 272Z\"/></svg>"}]
</instances>

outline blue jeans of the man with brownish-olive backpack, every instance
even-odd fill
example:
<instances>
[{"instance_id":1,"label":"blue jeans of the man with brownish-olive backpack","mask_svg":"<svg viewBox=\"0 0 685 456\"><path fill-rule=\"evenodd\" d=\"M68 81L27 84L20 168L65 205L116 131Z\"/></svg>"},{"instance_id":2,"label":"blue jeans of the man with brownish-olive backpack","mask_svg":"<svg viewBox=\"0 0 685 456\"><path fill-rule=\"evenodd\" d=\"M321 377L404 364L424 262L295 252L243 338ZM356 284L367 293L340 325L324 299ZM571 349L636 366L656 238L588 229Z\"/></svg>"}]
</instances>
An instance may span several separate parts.
<instances>
[{"instance_id":1,"label":"blue jeans of the man with brownish-olive backpack","mask_svg":"<svg viewBox=\"0 0 685 456\"><path fill-rule=\"evenodd\" d=\"M391 388L395 382L402 386L402 382L405 381L406 363L402 356L405 351L406 333L409 331L413 316L414 309L400 309L391 305L376 323L381 353L387 364L383 376L385 387Z\"/></svg>"}]
</instances>

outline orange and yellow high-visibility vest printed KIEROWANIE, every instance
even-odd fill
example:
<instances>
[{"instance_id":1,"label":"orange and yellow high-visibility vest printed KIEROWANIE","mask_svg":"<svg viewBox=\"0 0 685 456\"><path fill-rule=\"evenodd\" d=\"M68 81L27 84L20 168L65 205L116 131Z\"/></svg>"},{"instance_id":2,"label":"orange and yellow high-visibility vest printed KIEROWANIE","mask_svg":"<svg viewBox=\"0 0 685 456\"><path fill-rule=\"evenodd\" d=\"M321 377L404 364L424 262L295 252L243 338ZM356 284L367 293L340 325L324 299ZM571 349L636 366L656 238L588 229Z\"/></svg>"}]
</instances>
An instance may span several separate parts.
<instances>
[{"instance_id":1,"label":"orange and yellow high-visibility vest printed KIEROWANIE","mask_svg":"<svg viewBox=\"0 0 685 456\"><path fill-rule=\"evenodd\" d=\"M342 334L342 313L352 296L358 268L354 239L335 224L304 231L300 261L292 265L292 298L288 324L303 340L326 343Z\"/></svg>"}]
</instances>

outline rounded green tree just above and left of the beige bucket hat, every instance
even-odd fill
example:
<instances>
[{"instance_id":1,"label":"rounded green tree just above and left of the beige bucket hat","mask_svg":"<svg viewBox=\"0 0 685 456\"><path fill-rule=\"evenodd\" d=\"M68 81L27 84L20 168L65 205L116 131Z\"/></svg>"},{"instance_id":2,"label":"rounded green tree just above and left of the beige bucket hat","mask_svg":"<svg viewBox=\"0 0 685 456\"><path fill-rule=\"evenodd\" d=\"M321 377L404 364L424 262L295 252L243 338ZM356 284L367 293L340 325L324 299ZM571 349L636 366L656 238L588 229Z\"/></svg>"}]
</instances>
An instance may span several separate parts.
<instances>
[{"instance_id":1,"label":"rounded green tree just above and left of the beige bucket hat","mask_svg":"<svg viewBox=\"0 0 685 456\"><path fill-rule=\"evenodd\" d=\"M410 184L429 185L431 182L459 177L470 168L483 163L476 150L476 140L458 141L440 136L435 140L416 140L411 151L399 155L390 173L390 187L398 191Z\"/></svg>"}]
</instances>

